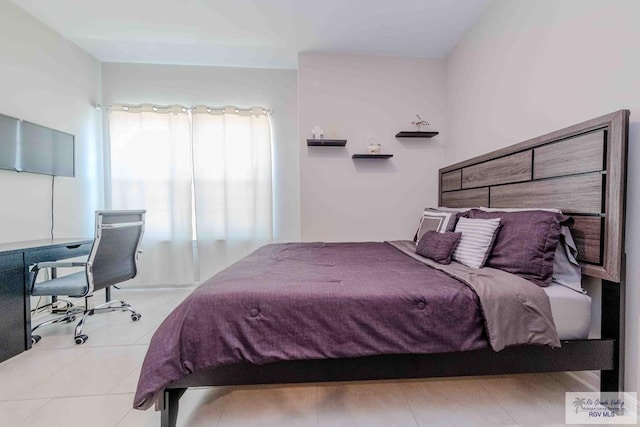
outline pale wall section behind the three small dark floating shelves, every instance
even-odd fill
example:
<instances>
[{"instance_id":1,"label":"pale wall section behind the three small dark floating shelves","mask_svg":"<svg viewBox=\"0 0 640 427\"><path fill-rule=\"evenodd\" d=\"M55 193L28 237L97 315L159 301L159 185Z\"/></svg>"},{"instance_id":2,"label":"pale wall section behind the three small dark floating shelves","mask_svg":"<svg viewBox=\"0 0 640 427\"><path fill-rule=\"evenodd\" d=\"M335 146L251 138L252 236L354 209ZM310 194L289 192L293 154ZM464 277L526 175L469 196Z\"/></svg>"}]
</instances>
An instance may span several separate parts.
<instances>
[{"instance_id":1,"label":"pale wall section behind the three small dark floating shelves","mask_svg":"<svg viewBox=\"0 0 640 427\"><path fill-rule=\"evenodd\" d=\"M438 201L444 61L302 54L298 62L302 240L412 238L422 209ZM416 114L440 135L396 139L415 130ZM327 139L347 139L346 147L307 147L316 125ZM353 160L371 138L394 157Z\"/></svg>"}]
</instances>

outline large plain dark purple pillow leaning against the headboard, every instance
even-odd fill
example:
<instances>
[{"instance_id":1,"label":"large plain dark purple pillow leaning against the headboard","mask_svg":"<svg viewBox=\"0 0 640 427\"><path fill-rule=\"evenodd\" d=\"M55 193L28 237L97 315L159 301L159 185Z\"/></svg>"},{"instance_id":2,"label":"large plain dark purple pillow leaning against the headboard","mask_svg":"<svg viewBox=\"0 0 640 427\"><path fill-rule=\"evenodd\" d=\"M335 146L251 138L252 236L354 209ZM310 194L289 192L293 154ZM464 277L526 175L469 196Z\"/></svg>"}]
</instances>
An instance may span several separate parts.
<instances>
[{"instance_id":1,"label":"large plain dark purple pillow leaning against the headboard","mask_svg":"<svg viewBox=\"0 0 640 427\"><path fill-rule=\"evenodd\" d=\"M551 283L560 225L567 225L572 218L540 210L486 212L479 209L472 209L469 218L500 218L502 228L485 266L517 274L539 286Z\"/></svg>"}]
</instances>

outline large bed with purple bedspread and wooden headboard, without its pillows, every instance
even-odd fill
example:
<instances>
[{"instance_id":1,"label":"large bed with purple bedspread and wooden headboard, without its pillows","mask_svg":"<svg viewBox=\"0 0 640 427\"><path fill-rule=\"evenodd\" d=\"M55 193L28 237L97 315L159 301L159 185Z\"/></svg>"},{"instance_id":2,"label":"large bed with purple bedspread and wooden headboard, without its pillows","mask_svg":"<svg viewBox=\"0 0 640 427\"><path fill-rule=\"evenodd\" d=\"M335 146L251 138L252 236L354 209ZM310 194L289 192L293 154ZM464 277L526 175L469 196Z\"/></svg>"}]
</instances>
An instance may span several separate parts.
<instances>
[{"instance_id":1,"label":"large bed with purple bedspread and wooden headboard, without its pillows","mask_svg":"<svg viewBox=\"0 0 640 427\"><path fill-rule=\"evenodd\" d=\"M617 111L439 172L440 206L554 207L570 217L583 276L602 280L600 338L585 338L584 316L571 323L589 304L573 290L532 286L500 269L418 262L412 242L269 245L167 318L150 344L135 407L155 403L162 425L175 426L180 396L195 386L579 370L599 370L602 391L622 391L628 118ZM434 283L427 290L417 285L426 271ZM303 279L317 286L294 286ZM483 282L495 280L515 297L506 309L486 303L495 287ZM213 293L217 303L198 302ZM505 326L505 310L515 326ZM207 316L222 313L220 323L233 312L244 320L211 330ZM298 329L279 325L280 313ZM301 334L305 328L314 334Z\"/></svg>"}]
</instances>

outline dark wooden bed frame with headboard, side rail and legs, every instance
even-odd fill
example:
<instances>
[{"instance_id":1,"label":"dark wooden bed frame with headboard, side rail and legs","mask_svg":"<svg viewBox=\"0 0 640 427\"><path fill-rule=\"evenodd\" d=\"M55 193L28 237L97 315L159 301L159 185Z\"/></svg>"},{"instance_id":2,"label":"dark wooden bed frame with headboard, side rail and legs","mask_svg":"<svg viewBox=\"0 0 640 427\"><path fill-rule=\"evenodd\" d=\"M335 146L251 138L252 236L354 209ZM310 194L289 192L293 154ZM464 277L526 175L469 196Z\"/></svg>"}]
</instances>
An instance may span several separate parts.
<instances>
[{"instance_id":1,"label":"dark wooden bed frame with headboard, side rail and legs","mask_svg":"<svg viewBox=\"0 0 640 427\"><path fill-rule=\"evenodd\" d=\"M583 274L602 280L601 338L562 347L241 363L171 383L159 403L176 425L189 387L599 370L601 391L624 390L624 211L629 111L621 110L440 169L448 207L557 207L575 219Z\"/></svg>"}]
</instances>

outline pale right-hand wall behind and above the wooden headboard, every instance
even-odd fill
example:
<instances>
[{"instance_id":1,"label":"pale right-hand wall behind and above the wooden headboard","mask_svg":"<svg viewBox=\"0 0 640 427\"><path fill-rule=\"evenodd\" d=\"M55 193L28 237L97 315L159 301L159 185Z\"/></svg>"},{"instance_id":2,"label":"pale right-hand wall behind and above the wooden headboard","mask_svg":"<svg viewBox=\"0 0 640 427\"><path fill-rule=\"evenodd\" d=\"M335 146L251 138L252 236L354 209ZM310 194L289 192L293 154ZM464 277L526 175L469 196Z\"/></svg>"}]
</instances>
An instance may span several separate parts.
<instances>
[{"instance_id":1,"label":"pale right-hand wall behind and above the wooden headboard","mask_svg":"<svg viewBox=\"0 0 640 427\"><path fill-rule=\"evenodd\" d=\"M497 0L446 61L447 164L631 110L627 391L640 382L639 16L637 0Z\"/></svg>"}]
</instances>

